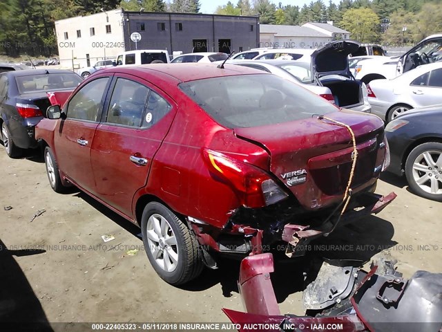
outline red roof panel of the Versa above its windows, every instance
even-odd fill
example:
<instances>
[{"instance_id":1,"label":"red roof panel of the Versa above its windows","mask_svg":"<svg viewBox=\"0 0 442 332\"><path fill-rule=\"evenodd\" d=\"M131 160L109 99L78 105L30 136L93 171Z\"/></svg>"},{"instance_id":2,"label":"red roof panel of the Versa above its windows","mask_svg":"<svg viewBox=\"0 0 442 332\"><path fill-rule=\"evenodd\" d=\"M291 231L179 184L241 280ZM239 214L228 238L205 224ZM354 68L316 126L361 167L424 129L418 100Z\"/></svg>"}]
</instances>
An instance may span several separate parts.
<instances>
[{"instance_id":1,"label":"red roof panel of the Versa above its windows","mask_svg":"<svg viewBox=\"0 0 442 332\"><path fill-rule=\"evenodd\" d=\"M219 64L201 64L190 62L185 64L143 64L140 66L117 66L106 68L100 73L127 73L138 77L143 77L148 73L162 73L162 77L173 77L180 82L203 80L212 77L227 77L233 75L258 74L253 68L233 66L225 64L224 68L218 68Z\"/></svg>"}]
</instances>

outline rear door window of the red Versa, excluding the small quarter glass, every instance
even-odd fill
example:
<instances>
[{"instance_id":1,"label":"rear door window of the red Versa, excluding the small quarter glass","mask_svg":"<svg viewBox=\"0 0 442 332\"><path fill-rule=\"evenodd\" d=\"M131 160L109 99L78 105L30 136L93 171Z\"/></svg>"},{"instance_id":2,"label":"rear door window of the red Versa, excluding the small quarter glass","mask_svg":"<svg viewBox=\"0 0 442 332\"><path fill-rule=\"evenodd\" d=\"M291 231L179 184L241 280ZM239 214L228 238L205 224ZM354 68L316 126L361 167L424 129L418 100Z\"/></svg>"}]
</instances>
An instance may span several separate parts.
<instances>
[{"instance_id":1,"label":"rear door window of the red Versa, excluding the small quarter glass","mask_svg":"<svg viewBox=\"0 0 442 332\"><path fill-rule=\"evenodd\" d=\"M118 78L113 89L106 122L140 127L149 89L137 82Z\"/></svg>"}]
</instances>

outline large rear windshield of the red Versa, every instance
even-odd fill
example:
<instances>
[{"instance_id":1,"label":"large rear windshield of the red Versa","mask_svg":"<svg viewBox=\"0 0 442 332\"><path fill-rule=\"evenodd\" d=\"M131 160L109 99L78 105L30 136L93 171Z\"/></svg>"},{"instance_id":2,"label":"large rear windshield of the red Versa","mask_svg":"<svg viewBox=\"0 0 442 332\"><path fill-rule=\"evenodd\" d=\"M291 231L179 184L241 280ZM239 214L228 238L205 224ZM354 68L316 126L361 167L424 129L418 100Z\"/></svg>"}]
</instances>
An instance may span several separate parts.
<instances>
[{"instance_id":1,"label":"large rear windshield of the red Versa","mask_svg":"<svg viewBox=\"0 0 442 332\"><path fill-rule=\"evenodd\" d=\"M180 89L227 128L259 127L310 118L336 107L276 75L214 77L184 82Z\"/></svg>"}]
</instances>

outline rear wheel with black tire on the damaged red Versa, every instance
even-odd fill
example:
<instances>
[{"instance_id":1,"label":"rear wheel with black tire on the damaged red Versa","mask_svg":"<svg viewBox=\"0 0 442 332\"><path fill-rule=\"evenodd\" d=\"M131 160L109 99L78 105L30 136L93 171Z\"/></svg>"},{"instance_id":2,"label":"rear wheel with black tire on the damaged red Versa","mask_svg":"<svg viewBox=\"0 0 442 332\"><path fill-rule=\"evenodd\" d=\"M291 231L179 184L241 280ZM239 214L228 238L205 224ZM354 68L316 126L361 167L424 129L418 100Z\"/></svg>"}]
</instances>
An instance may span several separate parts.
<instances>
[{"instance_id":1,"label":"rear wheel with black tire on the damaged red Versa","mask_svg":"<svg viewBox=\"0 0 442 332\"><path fill-rule=\"evenodd\" d=\"M198 241L169 208L158 202L148 203L141 227L147 257L165 282L186 284L200 275L204 264Z\"/></svg>"}]
</instances>

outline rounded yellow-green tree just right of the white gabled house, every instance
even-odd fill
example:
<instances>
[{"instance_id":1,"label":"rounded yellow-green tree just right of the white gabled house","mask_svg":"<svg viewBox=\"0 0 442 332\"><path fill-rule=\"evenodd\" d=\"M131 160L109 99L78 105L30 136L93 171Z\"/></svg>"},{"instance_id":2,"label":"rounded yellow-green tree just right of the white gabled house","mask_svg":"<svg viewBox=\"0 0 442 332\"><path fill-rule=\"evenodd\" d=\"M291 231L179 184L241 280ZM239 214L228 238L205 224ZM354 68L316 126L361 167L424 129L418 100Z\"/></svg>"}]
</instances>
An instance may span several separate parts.
<instances>
[{"instance_id":1,"label":"rounded yellow-green tree just right of the white gabled house","mask_svg":"<svg viewBox=\"0 0 442 332\"><path fill-rule=\"evenodd\" d=\"M379 17L369 8L349 9L343 15L340 26L352 33L359 42L377 42L379 37Z\"/></svg>"}]
</instances>

